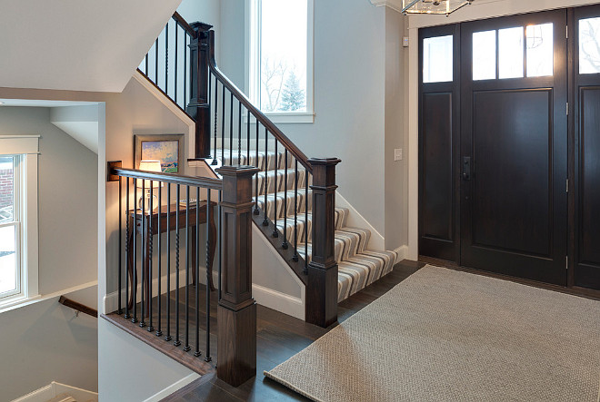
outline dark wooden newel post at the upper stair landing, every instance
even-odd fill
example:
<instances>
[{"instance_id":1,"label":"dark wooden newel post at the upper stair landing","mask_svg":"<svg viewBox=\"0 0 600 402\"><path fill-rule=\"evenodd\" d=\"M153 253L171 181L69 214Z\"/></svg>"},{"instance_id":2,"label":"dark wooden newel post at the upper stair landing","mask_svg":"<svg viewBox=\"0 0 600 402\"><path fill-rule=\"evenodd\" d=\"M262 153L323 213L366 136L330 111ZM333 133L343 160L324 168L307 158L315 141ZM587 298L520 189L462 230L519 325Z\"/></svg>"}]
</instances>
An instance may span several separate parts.
<instances>
[{"instance_id":1,"label":"dark wooden newel post at the upper stair landing","mask_svg":"<svg viewBox=\"0 0 600 402\"><path fill-rule=\"evenodd\" d=\"M213 25L190 24L196 37L190 47L190 103L185 108L195 120L195 158L210 158L210 104L208 99L208 31Z\"/></svg>"}]
</instances>

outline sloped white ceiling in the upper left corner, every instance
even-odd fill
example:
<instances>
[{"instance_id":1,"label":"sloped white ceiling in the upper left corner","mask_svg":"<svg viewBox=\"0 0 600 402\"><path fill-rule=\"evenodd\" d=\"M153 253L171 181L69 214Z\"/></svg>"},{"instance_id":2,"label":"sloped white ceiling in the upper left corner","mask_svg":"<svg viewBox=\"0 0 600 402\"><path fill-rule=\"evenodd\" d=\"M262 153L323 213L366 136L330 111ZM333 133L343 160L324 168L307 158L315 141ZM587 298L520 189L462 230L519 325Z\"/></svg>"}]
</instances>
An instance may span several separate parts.
<instances>
[{"instance_id":1,"label":"sloped white ceiling in the upper left corner","mask_svg":"<svg viewBox=\"0 0 600 402\"><path fill-rule=\"evenodd\" d=\"M0 0L0 87L123 91L181 0Z\"/></svg>"}]
</instances>

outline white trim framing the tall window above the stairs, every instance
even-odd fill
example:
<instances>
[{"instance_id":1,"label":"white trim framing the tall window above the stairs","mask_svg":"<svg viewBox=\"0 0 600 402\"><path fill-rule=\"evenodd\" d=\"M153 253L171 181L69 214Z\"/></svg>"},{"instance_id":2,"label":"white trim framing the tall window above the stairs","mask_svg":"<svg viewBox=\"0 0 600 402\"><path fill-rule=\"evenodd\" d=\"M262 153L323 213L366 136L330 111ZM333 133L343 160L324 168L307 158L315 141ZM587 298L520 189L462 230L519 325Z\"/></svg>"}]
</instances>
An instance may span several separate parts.
<instances>
[{"instance_id":1,"label":"white trim framing the tall window above the stairs","mask_svg":"<svg viewBox=\"0 0 600 402\"><path fill-rule=\"evenodd\" d=\"M315 0L307 0L308 10L306 18L306 112L275 112L265 113L273 123L315 123ZM257 71L260 70L260 56L255 54L260 44L260 33L253 41L252 26L260 25L258 8L260 3L256 0L245 1L245 93L256 104L260 83Z\"/></svg>"}]
</instances>

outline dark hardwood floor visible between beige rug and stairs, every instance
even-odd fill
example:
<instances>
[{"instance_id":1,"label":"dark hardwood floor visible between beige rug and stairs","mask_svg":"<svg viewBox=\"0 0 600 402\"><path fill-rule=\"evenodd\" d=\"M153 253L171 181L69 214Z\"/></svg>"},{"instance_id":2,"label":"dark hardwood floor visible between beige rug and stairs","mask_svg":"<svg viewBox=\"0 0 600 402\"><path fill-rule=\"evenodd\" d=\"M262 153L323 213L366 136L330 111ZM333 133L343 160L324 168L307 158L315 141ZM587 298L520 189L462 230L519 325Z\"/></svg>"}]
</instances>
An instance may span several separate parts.
<instances>
[{"instance_id":1,"label":"dark hardwood floor visible between beige rug and stairs","mask_svg":"<svg viewBox=\"0 0 600 402\"><path fill-rule=\"evenodd\" d=\"M361 290L338 305L338 322L343 322L356 311L382 296L398 283L420 270L425 264L403 260L394 270L371 286ZM212 313L212 311L211 311ZM212 315L212 314L211 314ZM258 306L256 340L256 377L240 387L231 387L209 373L176 391L163 401L297 401L308 400L290 389L265 378L263 371L275 368L297 352L325 335L332 328L319 328L273 309ZM212 331L211 331L212 332Z\"/></svg>"}]
</instances>

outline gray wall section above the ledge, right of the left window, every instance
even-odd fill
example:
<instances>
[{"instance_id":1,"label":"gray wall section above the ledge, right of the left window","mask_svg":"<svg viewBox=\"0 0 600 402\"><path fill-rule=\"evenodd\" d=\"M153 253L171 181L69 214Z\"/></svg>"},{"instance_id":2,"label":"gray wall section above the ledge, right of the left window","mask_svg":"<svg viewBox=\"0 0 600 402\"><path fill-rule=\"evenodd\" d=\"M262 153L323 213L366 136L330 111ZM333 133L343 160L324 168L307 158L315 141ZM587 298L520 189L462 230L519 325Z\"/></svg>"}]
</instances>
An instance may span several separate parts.
<instances>
[{"instance_id":1,"label":"gray wall section above the ledge, right of the left window","mask_svg":"<svg viewBox=\"0 0 600 402\"><path fill-rule=\"evenodd\" d=\"M50 123L49 108L0 107L0 133L41 135L40 294L96 280L97 155Z\"/></svg>"}]
</instances>

